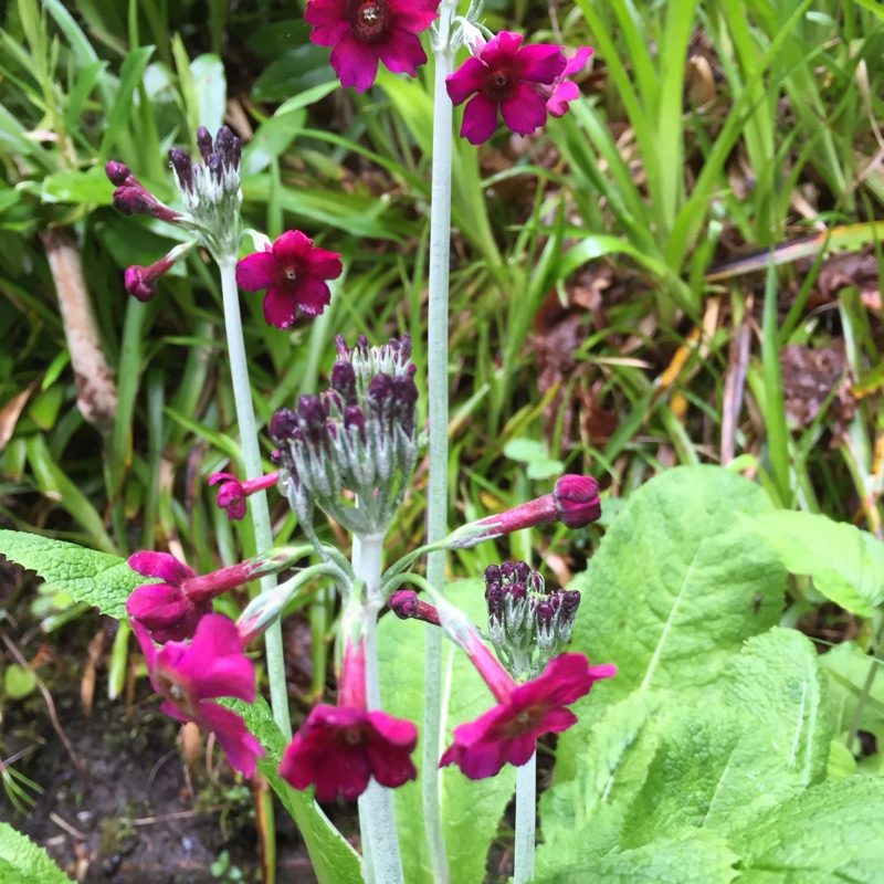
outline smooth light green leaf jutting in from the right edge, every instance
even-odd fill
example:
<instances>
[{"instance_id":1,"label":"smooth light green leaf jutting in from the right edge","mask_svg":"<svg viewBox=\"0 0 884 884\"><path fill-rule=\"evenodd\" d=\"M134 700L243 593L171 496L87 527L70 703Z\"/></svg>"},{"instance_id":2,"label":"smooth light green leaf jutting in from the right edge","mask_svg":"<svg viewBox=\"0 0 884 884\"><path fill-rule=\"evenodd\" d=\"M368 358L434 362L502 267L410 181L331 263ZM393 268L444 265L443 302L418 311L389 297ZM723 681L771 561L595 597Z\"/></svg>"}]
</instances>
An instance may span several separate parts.
<instances>
[{"instance_id":1,"label":"smooth light green leaf jutting in from the right edge","mask_svg":"<svg viewBox=\"0 0 884 884\"><path fill-rule=\"evenodd\" d=\"M746 518L792 573L835 604L871 617L884 601L884 544L869 532L815 513L785 509Z\"/></svg>"}]
</instances>

